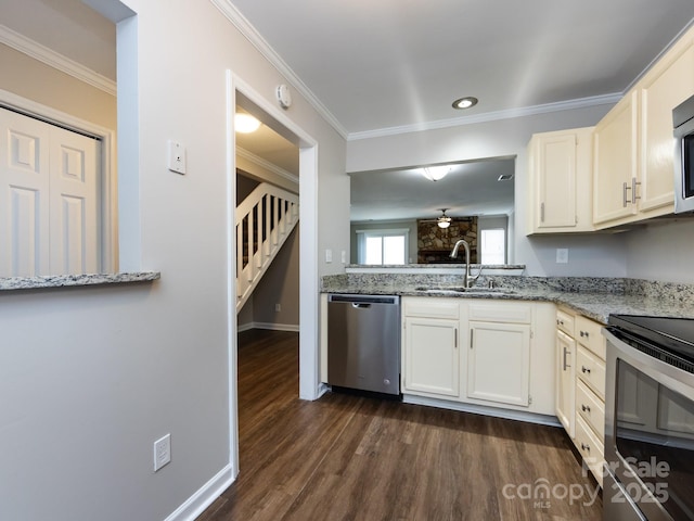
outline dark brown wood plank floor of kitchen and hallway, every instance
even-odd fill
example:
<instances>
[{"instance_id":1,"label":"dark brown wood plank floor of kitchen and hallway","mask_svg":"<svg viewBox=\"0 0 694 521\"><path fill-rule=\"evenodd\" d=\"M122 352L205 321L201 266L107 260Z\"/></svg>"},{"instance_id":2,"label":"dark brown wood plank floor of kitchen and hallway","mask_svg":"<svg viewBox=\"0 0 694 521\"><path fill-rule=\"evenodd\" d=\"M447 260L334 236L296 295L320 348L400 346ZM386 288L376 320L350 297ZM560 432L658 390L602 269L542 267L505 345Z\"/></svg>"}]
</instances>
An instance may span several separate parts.
<instances>
[{"instance_id":1,"label":"dark brown wood plank floor of kitchen and hallway","mask_svg":"<svg viewBox=\"0 0 694 521\"><path fill-rule=\"evenodd\" d=\"M298 334L241 333L241 472L198 521L602 519L558 428L297 396Z\"/></svg>"}]
</instances>

